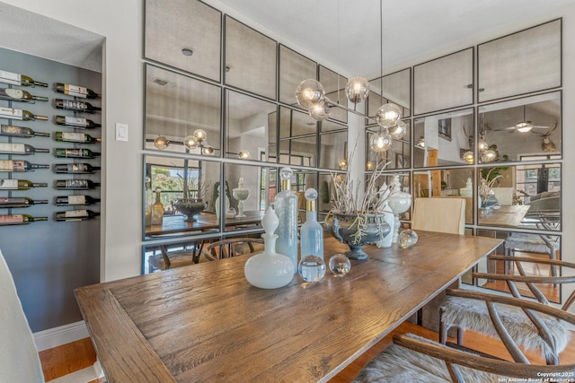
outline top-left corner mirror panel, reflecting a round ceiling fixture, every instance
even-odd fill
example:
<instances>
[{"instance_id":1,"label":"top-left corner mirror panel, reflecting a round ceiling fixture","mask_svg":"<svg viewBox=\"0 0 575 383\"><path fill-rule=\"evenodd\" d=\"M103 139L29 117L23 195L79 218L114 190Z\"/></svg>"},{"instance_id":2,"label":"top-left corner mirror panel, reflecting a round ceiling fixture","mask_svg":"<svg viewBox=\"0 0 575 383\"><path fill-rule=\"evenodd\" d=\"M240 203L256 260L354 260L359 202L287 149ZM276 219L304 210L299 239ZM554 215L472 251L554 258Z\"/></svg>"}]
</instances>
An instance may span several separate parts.
<instances>
[{"instance_id":1,"label":"top-left corner mirror panel, reflecting a round ceiling fixture","mask_svg":"<svg viewBox=\"0 0 575 383\"><path fill-rule=\"evenodd\" d=\"M222 13L199 1L145 3L144 57L219 81Z\"/></svg>"}]
</instances>

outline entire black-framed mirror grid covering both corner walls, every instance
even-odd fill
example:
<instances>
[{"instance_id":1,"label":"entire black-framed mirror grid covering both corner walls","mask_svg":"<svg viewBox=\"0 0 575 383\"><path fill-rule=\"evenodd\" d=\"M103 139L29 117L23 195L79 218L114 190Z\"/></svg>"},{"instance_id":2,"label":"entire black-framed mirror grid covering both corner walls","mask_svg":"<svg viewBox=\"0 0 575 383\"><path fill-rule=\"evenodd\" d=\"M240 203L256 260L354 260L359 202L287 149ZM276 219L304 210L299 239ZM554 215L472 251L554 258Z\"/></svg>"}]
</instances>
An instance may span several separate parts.
<instances>
[{"instance_id":1,"label":"entire black-framed mirror grid covering both corner walls","mask_svg":"<svg viewBox=\"0 0 575 383\"><path fill-rule=\"evenodd\" d=\"M175 27L181 17L185 28ZM208 18L209 27L200 28ZM408 134L387 152L373 152L368 139L379 127L367 119L367 149L355 153L365 159L366 175L384 161L381 182L399 174L414 198L464 197L466 233L505 239L500 254L561 258L561 24L545 22L372 79L358 108L374 116L383 103L396 103ZM184 222L173 201L183 197L178 175L188 159L190 174L209 183L195 216L215 222L157 236L144 226L147 258L158 257L162 244L188 251L204 239L259 233L255 218L234 221L240 200L245 215L261 213L280 191L283 166L295 170L294 192L318 189L320 219L331 209L332 173L346 169L353 150L348 113L334 108L330 118L315 121L297 106L294 91L315 78L330 100L347 104L345 76L195 1L146 0L145 56L143 211L156 178L164 177L166 216ZM249 191L234 196L240 180ZM401 218L408 227L411 212ZM548 294L561 298L559 291Z\"/></svg>"}]
</instances>

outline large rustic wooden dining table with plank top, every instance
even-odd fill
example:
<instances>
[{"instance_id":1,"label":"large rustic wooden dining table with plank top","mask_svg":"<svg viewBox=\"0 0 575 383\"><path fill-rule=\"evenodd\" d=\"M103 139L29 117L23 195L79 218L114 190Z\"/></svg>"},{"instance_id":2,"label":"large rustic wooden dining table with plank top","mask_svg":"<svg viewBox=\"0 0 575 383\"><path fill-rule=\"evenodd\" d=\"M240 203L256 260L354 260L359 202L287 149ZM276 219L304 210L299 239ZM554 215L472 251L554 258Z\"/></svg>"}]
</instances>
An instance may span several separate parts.
<instances>
[{"instance_id":1,"label":"large rustic wooden dining table with plank top","mask_svg":"<svg viewBox=\"0 0 575 383\"><path fill-rule=\"evenodd\" d=\"M295 275L279 289L253 287L241 256L75 296L110 383L327 381L501 243L418 234L411 248L366 246L369 259L318 283ZM326 263L346 249L325 239Z\"/></svg>"}]
</instances>

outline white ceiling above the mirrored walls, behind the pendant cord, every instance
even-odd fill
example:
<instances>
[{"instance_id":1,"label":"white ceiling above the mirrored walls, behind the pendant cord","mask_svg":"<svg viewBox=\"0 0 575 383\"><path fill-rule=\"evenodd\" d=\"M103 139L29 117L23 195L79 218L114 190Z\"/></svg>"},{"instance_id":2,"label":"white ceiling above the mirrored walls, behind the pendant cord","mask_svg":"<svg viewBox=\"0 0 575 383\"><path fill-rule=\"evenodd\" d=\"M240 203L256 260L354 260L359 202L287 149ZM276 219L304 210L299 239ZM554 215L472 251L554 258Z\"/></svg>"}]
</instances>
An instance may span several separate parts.
<instances>
[{"instance_id":1,"label":"white ceiling above the mirrored walls, behind the pendant cord","mask_svg":"<svg viewBox=\"0 0 575 383\"><path fill-rule=\"evenodd\" d=\"M381 70L379 0L219 1L304 48L315 59L337 65L336 69L343 74L369 76ZM384 67L575 3L575 0L382 1Z\"/></svg>"}]
</instances>

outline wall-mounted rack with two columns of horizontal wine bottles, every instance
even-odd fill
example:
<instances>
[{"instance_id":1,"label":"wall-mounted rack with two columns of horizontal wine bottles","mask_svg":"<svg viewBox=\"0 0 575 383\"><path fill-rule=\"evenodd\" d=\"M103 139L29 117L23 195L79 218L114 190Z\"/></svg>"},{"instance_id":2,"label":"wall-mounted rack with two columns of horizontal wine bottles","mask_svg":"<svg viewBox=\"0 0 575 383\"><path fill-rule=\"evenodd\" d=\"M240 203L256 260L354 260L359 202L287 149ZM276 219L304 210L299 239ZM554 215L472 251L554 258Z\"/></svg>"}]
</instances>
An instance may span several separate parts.
<instances>
[{"instance_id":1,"label":"wall-mounted rack with two columns of horizontal wine bottles","mask_svg":"<svg viewBox=\"0 0 575 383\"><path fill-rule=\"evenodd\" d=\"M51 84L0 68L0 227L100 215L100 95L60 79ZM47 202L54 208L39 215L51 217L35 216ZM30 219L19 223L19 215Z\"/></svg>"}]
</instances>

